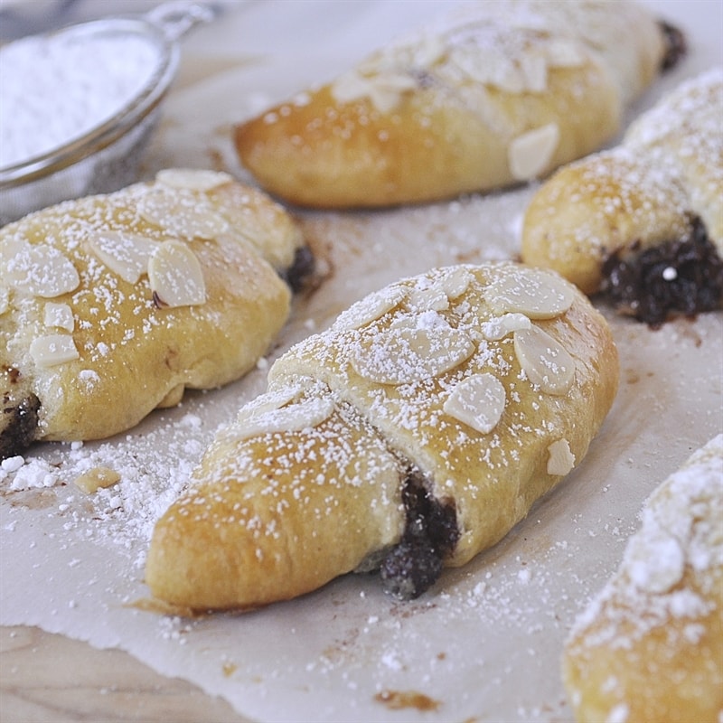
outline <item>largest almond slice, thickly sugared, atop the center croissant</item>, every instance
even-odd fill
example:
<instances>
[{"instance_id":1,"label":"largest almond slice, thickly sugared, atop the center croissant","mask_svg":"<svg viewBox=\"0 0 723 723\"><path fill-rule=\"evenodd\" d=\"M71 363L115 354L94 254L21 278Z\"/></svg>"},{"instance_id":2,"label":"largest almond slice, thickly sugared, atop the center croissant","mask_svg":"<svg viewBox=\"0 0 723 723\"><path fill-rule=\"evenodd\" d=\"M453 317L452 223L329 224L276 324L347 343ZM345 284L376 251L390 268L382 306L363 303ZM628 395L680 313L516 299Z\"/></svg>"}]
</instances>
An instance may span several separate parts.
<instances>
[{"instance_id":1,"label":"largest almond slice, thickly sugared, atop the center croissant","mask_svg":"<svg viewBox=\"0 0 723 723\"><path fill-rule=\"evenodd\" d=\"M469 334L427 312L401 317L352 349L352 367L380 384L413 384L454 369L475 350Z\"/></svg>"}]
</instances>

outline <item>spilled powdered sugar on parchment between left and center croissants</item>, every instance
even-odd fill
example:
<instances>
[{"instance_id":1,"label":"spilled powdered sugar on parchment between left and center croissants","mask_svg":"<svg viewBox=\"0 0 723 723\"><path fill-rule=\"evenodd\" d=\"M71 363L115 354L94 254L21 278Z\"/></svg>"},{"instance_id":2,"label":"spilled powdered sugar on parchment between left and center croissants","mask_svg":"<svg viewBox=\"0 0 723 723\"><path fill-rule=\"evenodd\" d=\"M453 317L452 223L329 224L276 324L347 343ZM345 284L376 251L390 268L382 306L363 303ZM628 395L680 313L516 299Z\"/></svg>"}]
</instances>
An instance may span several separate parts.
<instances>
[{"instance_id":1,"label":"spilled powdered sugar on parchment between left and center croissants","mask_svg":"<svg viewBox=\"0 0 723 723\"><path fill-rule=\"evenodd\" d=\"M155 520L187 483L215 429L193 409L199 404L201 399L191 399L169 417L155 415L155 428L147 424L125 437L39 446L26 457L5 459L0 465L3 496L22 512L38 506L39 495L52 493L52 507L63 516L66 531L125 549L140 567ZM99 467L112 469L120 480L83 492L75 481Z\"/></svg>"}]
</instances>

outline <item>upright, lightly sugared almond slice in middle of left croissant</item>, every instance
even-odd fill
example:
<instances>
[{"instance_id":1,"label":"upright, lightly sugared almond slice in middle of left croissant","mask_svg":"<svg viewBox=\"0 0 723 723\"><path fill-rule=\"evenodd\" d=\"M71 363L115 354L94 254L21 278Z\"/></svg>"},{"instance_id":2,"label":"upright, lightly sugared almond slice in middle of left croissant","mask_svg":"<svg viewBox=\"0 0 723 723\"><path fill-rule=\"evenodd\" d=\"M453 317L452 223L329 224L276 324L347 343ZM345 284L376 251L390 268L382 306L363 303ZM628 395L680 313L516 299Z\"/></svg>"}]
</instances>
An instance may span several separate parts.
<instances>
[{"instance_id":1,"label":"upright, lightly sugared almond slice in middle of left croissant","mask_svg":"<svg viewBox=\"0 0 723 723\"><path fill-rule=\"evenodd\" d=\"M183 241L158 245L148 261L148 280L158 305L192 306L206 301L201 264Z\"/></svg>"}]
</instances>

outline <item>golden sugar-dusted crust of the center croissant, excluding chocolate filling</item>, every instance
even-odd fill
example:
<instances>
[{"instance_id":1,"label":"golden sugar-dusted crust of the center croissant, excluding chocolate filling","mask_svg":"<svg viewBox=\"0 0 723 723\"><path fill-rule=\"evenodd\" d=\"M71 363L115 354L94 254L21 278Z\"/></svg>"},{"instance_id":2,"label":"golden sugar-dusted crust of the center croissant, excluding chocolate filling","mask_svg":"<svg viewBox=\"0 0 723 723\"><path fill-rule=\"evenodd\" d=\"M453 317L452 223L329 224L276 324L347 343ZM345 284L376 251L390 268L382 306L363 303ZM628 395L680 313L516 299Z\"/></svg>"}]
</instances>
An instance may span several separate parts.
<instances>
[{"instance_id":1,"label":"golden sugar-dusted crust of the center croissant, excluding chocolate filling","mask_svg":"<svg viewBox=\"0 0 723 723\"><path fill-rule=\"evenodd\" d=\"M530 288L568 303L521 313ZM470 380L484 390L453 404ZM606 321L549 272L487 264L403 279L275 362L268 392L157 522L146 582L172 606L248 608L378 567L404 532L411 469L455 511L444 564L464 565L581 462L617 380Z\"/></svg>"}]
</instances>

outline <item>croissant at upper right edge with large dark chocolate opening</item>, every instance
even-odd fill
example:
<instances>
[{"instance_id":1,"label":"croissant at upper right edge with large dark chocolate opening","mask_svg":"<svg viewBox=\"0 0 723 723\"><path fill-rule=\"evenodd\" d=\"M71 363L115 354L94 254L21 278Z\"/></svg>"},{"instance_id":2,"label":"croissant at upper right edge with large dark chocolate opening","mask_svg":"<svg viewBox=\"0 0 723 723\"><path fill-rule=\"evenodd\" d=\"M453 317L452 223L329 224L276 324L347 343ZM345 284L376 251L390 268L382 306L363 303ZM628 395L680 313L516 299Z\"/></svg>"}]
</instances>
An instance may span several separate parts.
<instances>
[{"instance_id":1,"label":"croissant at upper right edge with large dark chocolate opening","mask_svg":"<svg viewBox=\"0 0 723 723\"><path fill-rule=\"evenodd\" d=\"M721 117L716 68L639 117L620 146L560 169L525 212L522 260L653 325L719 308Z\"/></svg>"}]
</instances>

